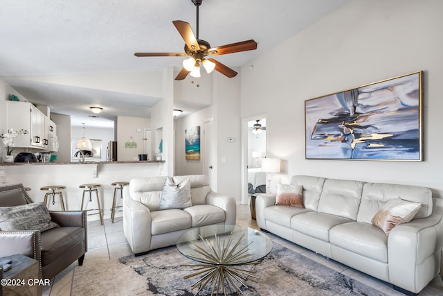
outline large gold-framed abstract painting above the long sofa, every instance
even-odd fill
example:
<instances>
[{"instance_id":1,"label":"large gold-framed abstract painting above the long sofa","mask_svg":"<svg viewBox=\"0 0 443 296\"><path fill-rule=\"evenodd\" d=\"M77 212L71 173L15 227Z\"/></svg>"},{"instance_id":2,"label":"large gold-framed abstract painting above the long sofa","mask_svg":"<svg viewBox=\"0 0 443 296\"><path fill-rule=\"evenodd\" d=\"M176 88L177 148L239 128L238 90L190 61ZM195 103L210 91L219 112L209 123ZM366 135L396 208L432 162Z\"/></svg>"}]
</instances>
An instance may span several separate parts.
<instances>
[{"instance_id":1,"label":"large gold-framed abstract painting above the long sofa","mask_svg":"<svg viewBox=\"0 0 443 296\"><path fill-rule=\"evenodd\" d=\"M306 159L422 160L422 71L305 101Z\"/></svg>"}]
</instances>

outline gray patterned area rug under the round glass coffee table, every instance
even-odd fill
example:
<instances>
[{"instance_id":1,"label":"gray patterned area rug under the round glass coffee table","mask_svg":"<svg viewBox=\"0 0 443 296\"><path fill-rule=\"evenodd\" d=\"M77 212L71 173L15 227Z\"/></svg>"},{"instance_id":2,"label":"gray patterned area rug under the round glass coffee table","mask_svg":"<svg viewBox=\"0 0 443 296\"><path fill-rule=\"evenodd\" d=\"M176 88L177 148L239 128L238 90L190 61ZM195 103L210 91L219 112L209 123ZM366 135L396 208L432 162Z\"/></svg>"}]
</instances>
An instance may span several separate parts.
<instances>
[{"instance_id":1,"label":"gray patterned area rug under the round glass coffee table","mask_svg":"<svg viewBox=\"0 0 443 296\"><path fill-rule=\"evenodd\" d=\"M75 268L71 295L194 295L197 278L183 279L193 263L177 250L165 247L145 256ZM274 243L260 264L247 265L260 277L246 281L244 295L385 295L359 281ZM199 295L210 295L207 288ZM237 295L237 293L235 293Z\"/></svg>"}]
</instances>

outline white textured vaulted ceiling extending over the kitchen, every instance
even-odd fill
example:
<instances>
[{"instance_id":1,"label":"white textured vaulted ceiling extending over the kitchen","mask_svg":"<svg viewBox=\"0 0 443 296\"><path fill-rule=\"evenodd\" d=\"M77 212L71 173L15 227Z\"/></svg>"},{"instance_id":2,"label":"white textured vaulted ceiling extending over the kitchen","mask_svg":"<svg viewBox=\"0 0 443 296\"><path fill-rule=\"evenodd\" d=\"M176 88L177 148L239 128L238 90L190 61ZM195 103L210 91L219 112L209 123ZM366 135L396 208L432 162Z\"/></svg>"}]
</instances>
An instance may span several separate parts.
<instances>
[{"instance_id":1,"label":"white textured vaulted ceiling extending over the kitchen","mask_svg":"<svg viewBox=\"0 0 443 296\"><path fill-rule=\"evenodd\" d=\"M256 51L217 57L228 67L241 67L349 1L204 0L199 38L211 46L255 40ZM134 56L183 52L173 20L188 21L196 33L191 0L2 0L0 78L53 112L82 116L90 114L85 106L98 104L109 119L149 116L149 108L161 99L156 91L138 93L115 82L84 87L72 81L85 73L91 78L98 73L131 77L168 66L179 71L183 58Z\"/></svg>"}]
</instances>

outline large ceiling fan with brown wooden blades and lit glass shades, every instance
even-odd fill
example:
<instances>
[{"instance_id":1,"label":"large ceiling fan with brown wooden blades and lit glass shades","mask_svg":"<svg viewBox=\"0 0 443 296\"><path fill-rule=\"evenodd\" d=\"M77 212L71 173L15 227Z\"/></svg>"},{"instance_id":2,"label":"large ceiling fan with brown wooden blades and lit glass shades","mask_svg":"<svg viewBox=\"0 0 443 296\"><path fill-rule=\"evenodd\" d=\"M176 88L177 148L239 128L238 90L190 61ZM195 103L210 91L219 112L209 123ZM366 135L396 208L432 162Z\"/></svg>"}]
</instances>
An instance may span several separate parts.
<instances>
[{"instance_id":1,"label":"large ceiling fan with brown wooden blades and lit glass shades","mask_svg":"<svg viewBox=\"0 0 443 296\"><path fill-rule=\"evenodd\" d=\"M217 62L213 58L206 58L208 55L225 55L227 53L238 53L240 51L251 51L257 49L257 42L246 40L242 42L226 44L217 47L210 47L209 42L199 39L199 6L203 0L191 0L197 8L197 37L192 32L192 28L186 21L172 21L183 40L185 40L185 53L134 53L137 57L183 57L190 58L183 60L183 68L175 80L183 80L188 76L200 77L200 63L208 73L219 71L228 78L233 78L237 72L229 67Z\"/></svg>"}]
</instances>

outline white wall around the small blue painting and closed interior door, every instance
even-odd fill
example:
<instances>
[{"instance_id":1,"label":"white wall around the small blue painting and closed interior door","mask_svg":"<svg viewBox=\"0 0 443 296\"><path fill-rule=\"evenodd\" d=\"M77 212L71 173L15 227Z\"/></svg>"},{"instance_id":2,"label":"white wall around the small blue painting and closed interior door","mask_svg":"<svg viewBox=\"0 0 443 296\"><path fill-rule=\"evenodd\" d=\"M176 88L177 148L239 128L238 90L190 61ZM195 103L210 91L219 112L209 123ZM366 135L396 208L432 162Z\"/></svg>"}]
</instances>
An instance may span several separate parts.
<instances>
[{"instance_id":1,"label":"white wall around the small blue painting and closed interior door","mask_svg":"<svg viewBox=\"0 0 443 296\"><path fill-rule=\"evenodd\" d=\"M239 71L239 69L236 69ZM241 200L241 133L240 133L240 78L226 78L220 73L211 73L213 105L199 112L176 120L175 155L176 175L204 173L204 121L214 119L214 137L217 153L217 192ZM176 94L179 96L180 94ZM178 98L180 99L180 97ZM201 127L201 159L185 160L184 130ZM234 139L228 142L228 137ZM222 162L226 159L226 162Z\"/></svg>"}]
</instances>

